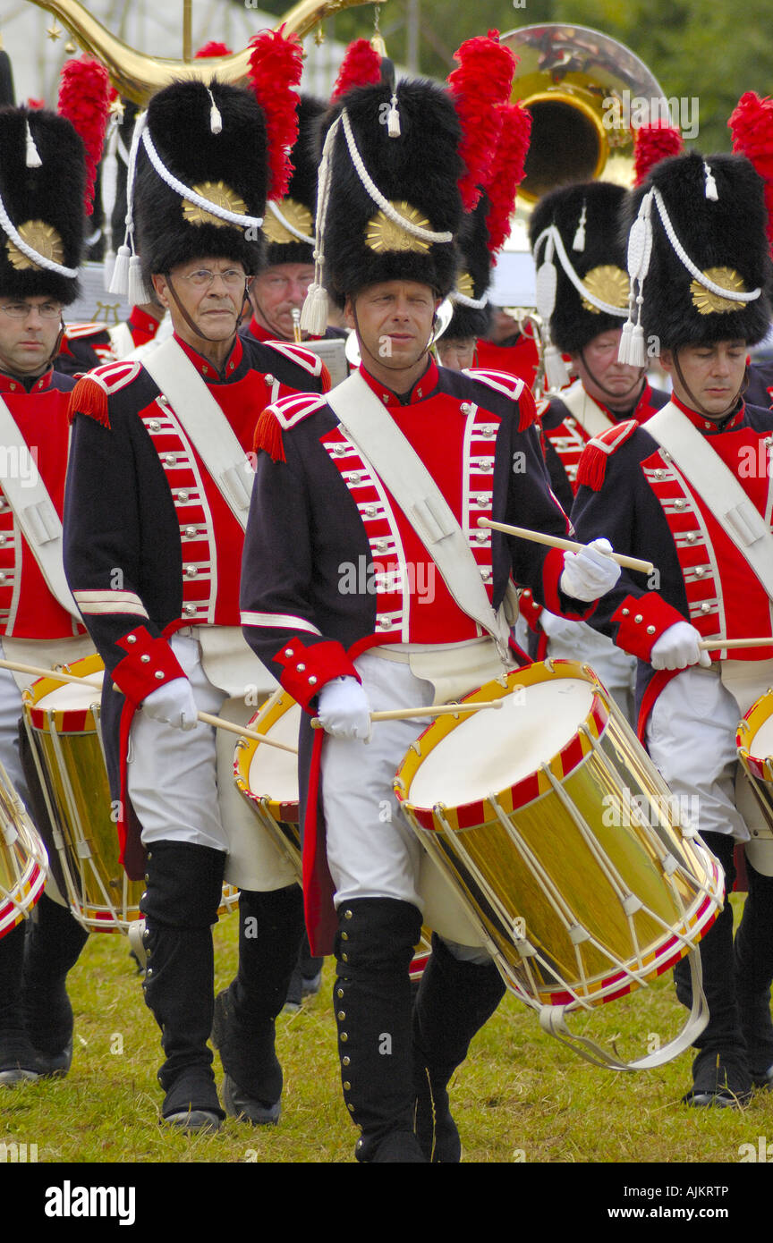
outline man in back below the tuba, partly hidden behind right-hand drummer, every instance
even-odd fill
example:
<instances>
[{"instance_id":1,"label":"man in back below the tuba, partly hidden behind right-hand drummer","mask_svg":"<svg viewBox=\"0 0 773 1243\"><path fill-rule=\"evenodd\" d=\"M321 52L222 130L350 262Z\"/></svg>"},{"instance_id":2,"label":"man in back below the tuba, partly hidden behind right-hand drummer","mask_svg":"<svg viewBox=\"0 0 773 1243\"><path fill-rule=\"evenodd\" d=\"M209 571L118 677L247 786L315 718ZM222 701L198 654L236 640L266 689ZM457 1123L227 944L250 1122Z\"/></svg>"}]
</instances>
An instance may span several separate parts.
<instances>
[{"instance_id":1,"label":"man in back below the tuba, partly hidden behind right-hand drummer","mask_svg":"<svg viewBox=\"0 0 773 1243\"><path fill-rule=\"evenodd\" d=\"M643 367L618 362L629 292L619 237L624 199L623 186L605 181L562 186L539 200L529 225L538 268L556 272L553 305L543 308L549 326L546 354L551 348L568 354L577 375L538 406L553 491L567 512L590 438L626 419L640 423L667 400L650 388ZM585 623L537 608L528 592L522 610L536 634L532 655L587 660L633 720L635 660Z\"/></svg>"}]
</instances>

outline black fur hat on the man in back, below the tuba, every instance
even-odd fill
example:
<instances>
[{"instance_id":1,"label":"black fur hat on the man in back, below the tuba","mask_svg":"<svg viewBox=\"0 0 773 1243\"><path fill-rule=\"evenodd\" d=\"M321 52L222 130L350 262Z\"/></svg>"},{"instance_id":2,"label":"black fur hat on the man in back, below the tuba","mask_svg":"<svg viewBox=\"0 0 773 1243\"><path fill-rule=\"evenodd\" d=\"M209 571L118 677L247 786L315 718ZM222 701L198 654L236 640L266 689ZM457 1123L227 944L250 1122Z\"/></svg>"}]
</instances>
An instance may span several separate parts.
<instances>
[{"instance_id":1,"label":"black fur hat on the man in back, below the tuba","mask_svg":"<svg viewBox=\"0 0 773 1243\"><path fill-rule=\"evenodd\" d=\"M583 349L594 337L621 328L628 314L629 281L625 245L620 240L620 210L625 200L621 185L610 181L582 181L546 194L532 213L529 241L539 270L549 254L549 241L541 235L553 225L565 254L556 246L556 298L551 321L553 344L567 354ZM599 301L619 307L613 314L583 297L567 273L574 270L583 287Z\"/></svg>"}]
</instances>

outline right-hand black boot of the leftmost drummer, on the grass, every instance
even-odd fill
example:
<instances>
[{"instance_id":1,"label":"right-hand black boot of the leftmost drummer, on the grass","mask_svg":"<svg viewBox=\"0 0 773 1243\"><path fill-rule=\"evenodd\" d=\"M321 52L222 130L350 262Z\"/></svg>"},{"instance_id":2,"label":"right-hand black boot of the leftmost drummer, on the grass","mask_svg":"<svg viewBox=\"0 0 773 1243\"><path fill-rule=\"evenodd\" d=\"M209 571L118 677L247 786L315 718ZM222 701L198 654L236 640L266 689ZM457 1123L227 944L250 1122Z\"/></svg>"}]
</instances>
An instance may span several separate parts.
<instances>
[{"instance_id":1,"label":"right-hand black boot of the leftmost drummer, on the grass","mask_svg":"<svg viewBox=\"0 0 773 1243\"><path fill-rule=\"evenodd\" d=\"M24 955L24 1013L41 1074L63 1078L72 1062L67 973L88 941L70 909L46 894L35 907Z\"/></svg>"}]
</instances>

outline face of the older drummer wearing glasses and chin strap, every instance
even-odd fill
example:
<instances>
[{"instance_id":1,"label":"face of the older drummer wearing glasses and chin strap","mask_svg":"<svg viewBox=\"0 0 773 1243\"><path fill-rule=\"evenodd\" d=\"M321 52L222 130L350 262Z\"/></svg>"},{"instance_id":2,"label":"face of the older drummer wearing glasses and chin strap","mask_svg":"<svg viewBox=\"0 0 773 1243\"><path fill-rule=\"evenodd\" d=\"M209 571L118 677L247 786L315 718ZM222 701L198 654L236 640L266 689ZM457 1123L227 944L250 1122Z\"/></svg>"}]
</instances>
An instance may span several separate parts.
<instances>
[{"instance_id":1,"label":"face of the older drummer wearing glasses and chin strap","mask_svg":"<svg viewBox=\"0 0 773 1243\"><path fill-rule=\"evenodd\" d=\"M213 272L214 280L208 280ZM241 264L231 259L196 259L173 267L169 277L188 317L209 341L227 341L234 336L245 298L246 276ZM155 273L153 287L162 306L169 310L176 334L198 349L201 339L175 302L169 277Z\"/></svg>"}]
</instances>

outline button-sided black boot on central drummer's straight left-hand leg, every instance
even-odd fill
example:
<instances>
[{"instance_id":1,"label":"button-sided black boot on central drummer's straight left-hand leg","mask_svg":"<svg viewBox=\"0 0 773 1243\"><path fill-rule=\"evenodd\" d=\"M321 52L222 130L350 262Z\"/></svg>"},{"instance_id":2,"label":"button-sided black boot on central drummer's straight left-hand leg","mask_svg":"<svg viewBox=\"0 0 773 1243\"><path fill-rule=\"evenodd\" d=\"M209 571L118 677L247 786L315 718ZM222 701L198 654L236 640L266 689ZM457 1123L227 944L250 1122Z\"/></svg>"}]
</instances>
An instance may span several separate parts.
<instances>
[{"instance_id":1,"label":"button-sided black boot on central drummer's straight left-hand leg","mask_svg":"<svg viewBox=\"0 0 773 1243\"><path fill-rule=\"evenodd\" d=\"M425 1162L414 1135L409 968L421 930L410 902L360 897L338 910L333 1006L358 1161Z\"/></svg>"}]
</instances>

